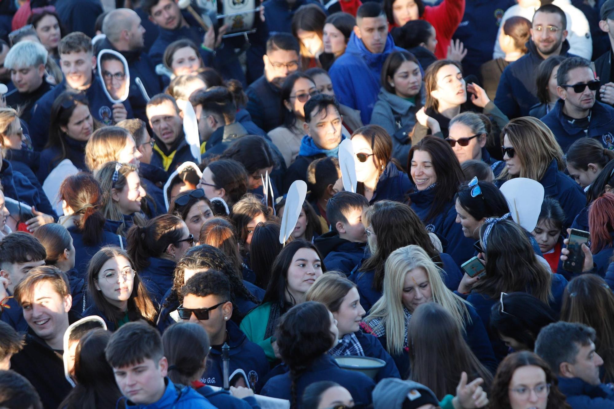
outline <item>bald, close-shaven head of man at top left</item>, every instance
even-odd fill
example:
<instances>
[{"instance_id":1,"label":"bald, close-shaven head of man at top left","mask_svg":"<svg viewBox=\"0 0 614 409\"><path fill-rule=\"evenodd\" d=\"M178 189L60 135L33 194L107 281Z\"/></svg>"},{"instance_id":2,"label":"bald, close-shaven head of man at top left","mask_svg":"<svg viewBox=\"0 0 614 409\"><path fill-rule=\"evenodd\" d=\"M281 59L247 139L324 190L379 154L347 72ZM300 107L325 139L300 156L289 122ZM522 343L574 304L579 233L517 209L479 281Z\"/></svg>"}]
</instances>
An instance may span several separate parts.
<instances>
[{"instance_id":1,"label":"bald, close-shaven head of man at top left","mask_svg":"<svg viewBox=\"0 0 614 409\"><path fill-rule=\"evenodd\" d=\"M145 29L141 18L130 9L115 9L103 20L103 33L119 51L131 51L143 47Z\"/></svg>"}]
</instances>

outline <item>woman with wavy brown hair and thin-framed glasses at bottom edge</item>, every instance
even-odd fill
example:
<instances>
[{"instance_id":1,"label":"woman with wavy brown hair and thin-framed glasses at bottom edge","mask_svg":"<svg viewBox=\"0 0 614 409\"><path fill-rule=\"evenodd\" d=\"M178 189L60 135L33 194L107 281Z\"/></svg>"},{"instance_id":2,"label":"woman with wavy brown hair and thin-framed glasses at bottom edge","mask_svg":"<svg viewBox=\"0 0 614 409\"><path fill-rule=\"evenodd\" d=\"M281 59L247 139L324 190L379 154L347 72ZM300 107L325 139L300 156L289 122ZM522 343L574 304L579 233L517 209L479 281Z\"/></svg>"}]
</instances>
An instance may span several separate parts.
<instances>
[{"instance_id":1,"label":"woman with wavy brown hair and thin-framed glasses at bottom edge","mask_svg":"<svg viewBox=\"0 0 614 409\"><path fill-rule=\"evenodd\" d=\"M571 409L546 362L531 351L508 355L497 368L489 407L501 409Z\"/></svg>"}]
</instances>

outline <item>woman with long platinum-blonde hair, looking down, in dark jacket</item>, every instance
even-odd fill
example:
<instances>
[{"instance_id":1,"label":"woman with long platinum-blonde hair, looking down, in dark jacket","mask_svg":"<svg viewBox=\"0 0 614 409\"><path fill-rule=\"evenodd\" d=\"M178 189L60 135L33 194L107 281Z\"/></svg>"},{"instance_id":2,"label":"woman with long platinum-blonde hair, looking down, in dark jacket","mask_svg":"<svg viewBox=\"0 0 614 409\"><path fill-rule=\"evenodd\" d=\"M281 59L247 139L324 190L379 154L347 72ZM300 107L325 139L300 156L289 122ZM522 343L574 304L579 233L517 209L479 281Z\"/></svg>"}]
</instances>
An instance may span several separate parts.
<instances>
[{"instance_id":1,"label":"woman with long platinum-blonde hair, looking down, in dark jacket","mask_svg":"<svg viewBox=\"0 0 614 409\"><path fill-rule=\"evenodd\" d=\"M401 378L410 373L408 325L419 305L441 305L463 329L463 336L481 364L497 367L488 333L473 306L446 288L441 268L422 247L401 247L386 259L383 295L364 319L363 330L379 338L394 358ZM458 372L460 375L460 372Z\"/></svg>"}]
</instances>

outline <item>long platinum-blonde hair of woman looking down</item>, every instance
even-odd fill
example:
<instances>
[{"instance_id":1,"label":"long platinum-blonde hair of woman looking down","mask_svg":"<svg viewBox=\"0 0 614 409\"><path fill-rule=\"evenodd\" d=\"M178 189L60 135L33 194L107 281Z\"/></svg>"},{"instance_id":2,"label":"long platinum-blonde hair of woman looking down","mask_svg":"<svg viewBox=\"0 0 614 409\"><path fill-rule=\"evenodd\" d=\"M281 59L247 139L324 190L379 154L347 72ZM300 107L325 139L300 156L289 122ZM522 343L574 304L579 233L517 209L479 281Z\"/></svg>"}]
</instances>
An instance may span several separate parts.
<instances>
[{"instance_id":1,"label":"long platinum-blonde hair of woman looking down","mask_svg":"<svg viewBox=\"0 0 614 409\"><path fill-rule=\"evenodd\" d=\"M386 330L386 349L393 354L403 352L405 340L405 314L403 313L403 286L405 276L415 268L422 268L429 279L432 302L445 308L461 329L465 322L472 322L467 303L446 288L441 279L441 268L437 267L422 247L411 245L393 251L386 259L384 291L378 302L365 318L367 324L375 318L381 319L378 326Z\"/></svg>"}]
</instances>

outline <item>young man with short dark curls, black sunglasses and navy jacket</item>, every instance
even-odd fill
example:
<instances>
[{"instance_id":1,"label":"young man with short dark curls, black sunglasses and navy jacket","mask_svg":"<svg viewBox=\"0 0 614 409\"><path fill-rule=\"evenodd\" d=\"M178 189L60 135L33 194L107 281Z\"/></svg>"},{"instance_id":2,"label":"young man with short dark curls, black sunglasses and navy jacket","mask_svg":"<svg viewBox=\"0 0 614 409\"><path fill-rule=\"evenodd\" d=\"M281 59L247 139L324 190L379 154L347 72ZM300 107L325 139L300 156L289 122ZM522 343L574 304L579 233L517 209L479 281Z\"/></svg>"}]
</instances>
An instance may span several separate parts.
<instances>
[{"instance_id":1,"label":"young man with short dark curls, black sunglasses and navy jacket","mask_svg":"<svg viewBox=\"0 0 614 409\"><path fill-rule=\"evenodd\" d=\"M179 317L184 322L195 322L203 327L211 343L201 382L223 386L222 346L226 343L230 347L229 375L243 372L238 379L232 378L230 386L244 386L259 392L269 370L268 361L262 348L248 340L231 320L232 290L227 276L216 270L196 273L185 282L181 295L183 304L177 308Z\"/></svg>"}]
</instances>

